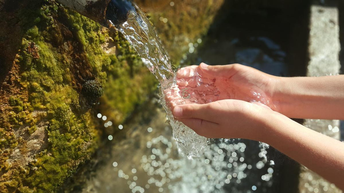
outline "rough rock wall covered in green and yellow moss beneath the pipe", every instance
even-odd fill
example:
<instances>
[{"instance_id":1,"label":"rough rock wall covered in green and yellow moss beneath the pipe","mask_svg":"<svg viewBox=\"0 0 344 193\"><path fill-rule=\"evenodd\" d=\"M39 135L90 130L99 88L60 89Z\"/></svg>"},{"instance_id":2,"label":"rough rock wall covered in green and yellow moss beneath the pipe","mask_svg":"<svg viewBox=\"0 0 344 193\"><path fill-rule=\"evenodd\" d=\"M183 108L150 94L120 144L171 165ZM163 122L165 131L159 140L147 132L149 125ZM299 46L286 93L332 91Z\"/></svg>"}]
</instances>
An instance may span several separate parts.
<instances>
[{"instance_id":1,"label":"rough rock wall covered in green and yellow moss beneath the pipe","mask_svg":"<svg viewBox=\"0 0 344 193\"><path fill-rule=\"evenodd\" d=\"M178 30L189 10L156 24L175 61L181 53L170 37L205 33L222 1L209 2L197 32ZM160 8L146 9L153 22ZM158 83L118 32L54 0L0 0L0 18L0 192L54 192L104 145L97 113L121 124Z\"/></svg>"}]
</instances>

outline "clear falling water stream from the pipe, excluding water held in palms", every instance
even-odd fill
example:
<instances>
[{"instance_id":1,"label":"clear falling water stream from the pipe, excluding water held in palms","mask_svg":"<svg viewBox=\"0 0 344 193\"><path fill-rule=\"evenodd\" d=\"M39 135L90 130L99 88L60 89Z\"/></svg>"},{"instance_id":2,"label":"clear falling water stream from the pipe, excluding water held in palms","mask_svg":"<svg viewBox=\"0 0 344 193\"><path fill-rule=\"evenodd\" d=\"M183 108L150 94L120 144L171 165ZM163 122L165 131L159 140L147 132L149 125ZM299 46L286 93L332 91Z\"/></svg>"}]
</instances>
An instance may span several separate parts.
<instances>
[{"instance_id":1,"label":"clear falling water stream from the pipe, excluding water held in palms","mask_svg":"<svg viewBox=\"0 0 344 193\"><path fill-rule=\"evenodd\" d=\"M166 105L165 90L178 89L176 74L173 72L171 60L147 16L140 8L137 6L135 8L136 12L128 13L126 22L114 27L125 36L140 55L143 63L160 82L160 102L167 112L180 152L188 157L196 157L207 146L207 138L197 135L192 129L175 120L170 108ZM110 23L112 24L111 21ZM185 104L188 101L190 100L180 97L179 104Z\"/></svg>"}]
</instances>

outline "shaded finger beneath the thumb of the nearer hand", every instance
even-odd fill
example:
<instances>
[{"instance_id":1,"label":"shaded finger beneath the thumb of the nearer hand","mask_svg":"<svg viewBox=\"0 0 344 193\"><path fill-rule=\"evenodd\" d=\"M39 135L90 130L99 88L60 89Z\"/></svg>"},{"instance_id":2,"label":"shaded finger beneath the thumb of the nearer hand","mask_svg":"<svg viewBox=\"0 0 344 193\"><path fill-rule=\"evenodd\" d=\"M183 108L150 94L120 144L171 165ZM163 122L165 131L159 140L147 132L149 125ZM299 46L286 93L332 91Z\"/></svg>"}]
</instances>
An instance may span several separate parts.
<instances>
[{"instance_id":1,"label":"shaded finger beneath the thumb of the nearer hand","mask_svg":"<svg viewBox=\"0 0 344 193\"><path fill-rule=\"evenodd\" d=\"M211 121L206 121L198 118L182 118L180 119L186 126L194 130L198 135L215 138L216 128L219 124L213 123Z\"/></svg>"}]
</instances>

